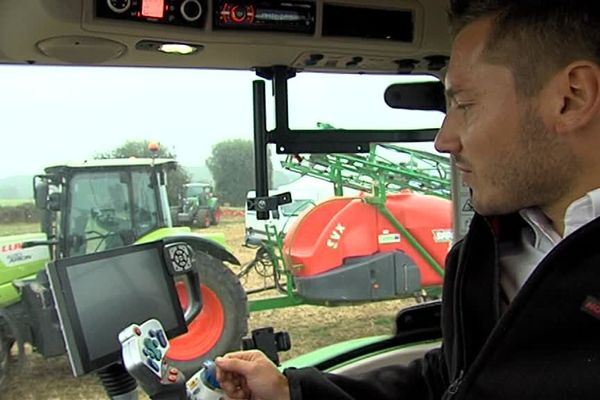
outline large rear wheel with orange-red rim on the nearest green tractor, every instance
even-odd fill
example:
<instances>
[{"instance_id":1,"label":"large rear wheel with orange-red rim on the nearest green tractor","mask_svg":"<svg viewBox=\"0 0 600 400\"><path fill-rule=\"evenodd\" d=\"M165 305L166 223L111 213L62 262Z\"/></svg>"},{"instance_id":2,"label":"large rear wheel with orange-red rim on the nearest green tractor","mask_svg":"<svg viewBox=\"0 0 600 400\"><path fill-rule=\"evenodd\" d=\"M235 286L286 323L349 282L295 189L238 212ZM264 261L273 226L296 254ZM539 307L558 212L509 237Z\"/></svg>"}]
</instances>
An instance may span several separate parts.
<instances>
[{"instance_id":1,"label":"large rear wheel with orange-red rim on the nearest green tractor","mask_svg":"<svg viewBox=\"0 0 600 400\"><path fill-rule=\"evenodd\" d=\"M188 332L171 340L169 363L187 377L201 368L205 359L214 359L232 350L240 350L248 331L248 303L244 288L235 274L220 260L206 256L200 265L202 310L188 325ZM187 293L177 287L185 309Z\"/></svg>"}]
</instances>

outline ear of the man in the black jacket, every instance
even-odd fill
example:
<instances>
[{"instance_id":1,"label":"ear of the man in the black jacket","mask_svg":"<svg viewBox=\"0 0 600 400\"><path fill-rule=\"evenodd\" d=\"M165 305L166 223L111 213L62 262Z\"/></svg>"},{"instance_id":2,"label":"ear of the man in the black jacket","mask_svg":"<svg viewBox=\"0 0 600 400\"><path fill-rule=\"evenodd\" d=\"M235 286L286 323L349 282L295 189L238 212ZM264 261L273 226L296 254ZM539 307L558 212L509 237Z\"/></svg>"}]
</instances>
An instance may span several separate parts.
<instances>
[{"instance_id":1,"label":"ear of the man in the black jacket","mask_svg":"<svg viewBox=\"0 0 600 400\"><path fill-rule=\"evenodd\" d=\"M600 68L592 62L572 63L555 76L560 110L554 126L559 134L578 131L600 117Z\"/></svg>"}]
</instances>

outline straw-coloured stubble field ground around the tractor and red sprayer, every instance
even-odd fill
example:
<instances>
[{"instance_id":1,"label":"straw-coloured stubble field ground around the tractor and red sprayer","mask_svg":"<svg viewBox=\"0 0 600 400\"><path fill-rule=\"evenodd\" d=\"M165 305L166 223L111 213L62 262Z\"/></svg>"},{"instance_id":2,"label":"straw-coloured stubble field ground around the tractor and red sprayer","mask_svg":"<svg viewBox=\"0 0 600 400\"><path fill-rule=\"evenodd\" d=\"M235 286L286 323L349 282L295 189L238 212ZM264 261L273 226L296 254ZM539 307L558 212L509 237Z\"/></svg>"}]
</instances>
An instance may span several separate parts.
<instances>
[{"instance_id":1,"label":"straw-coloured stubble field ground around the tractor and red sprayer","mask_svg":"<svg viewBox=\"0 0 600 400\"><path fill-rule=\"evenodd\" d=\"M205 231L223 232L230 250L242 265L254 257L255 250L243 246L243 216L226 216L218 226ZM233 270L237 272L238 268ZM246 289L263 283L264 279L255 273L242 280ZM273 293L261 295L270 294ZM287 331L292 349L281 353L281 360L285 361L342 340L392 333L395 314L413 303L412 300L394 300L359 306L297 306L252 313L249 325L250 329L272 326L276 331ZM16 359L16 348L13 355ZM66 356L44 359L29 349L25 364L19 369L15 362L12 366L15 368L11 368L0 390L1 400L107 399L96 376L77 379L72 376ZM146 398L143 394L140 396L140 399Z\"/></svg>"}]
</instances>

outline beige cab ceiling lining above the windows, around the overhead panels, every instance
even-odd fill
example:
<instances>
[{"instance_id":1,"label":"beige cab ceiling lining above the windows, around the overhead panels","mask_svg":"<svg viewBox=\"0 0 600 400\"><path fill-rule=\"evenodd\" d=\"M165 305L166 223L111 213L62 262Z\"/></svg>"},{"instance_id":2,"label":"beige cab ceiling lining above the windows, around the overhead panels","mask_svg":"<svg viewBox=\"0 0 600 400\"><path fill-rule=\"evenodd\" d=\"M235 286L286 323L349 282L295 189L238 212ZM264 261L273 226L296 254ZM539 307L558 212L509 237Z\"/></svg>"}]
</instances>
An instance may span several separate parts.
<instances>
[{"instance_id":1,"label":"beige cab ceiling lining above the windows, around the overhead panels","mask_svg":"<svg viewBox=\"0 0 600 400\"><path fill-rule=\"evenodd\" d=\"M221 12L219 7L224 3L219 0L194 0L201 2L202 19L189 26L170 24L166 15L162 23L150 18L144 21L102 17L98 7L104 7L104 3L111 0L96 1L0 2L0 63L242 70L284 65L305 71L438 75L445 66L450 47L445 2L440 0L285 1L292 6L294 3L311 5L313 26L308 32L307 29L303 32L270 30L269 26L224 29L216 23ZM127 1L141 7L140 2L150 0ZM173 3L176 5L173 9L179 10L185 0L160 1L167 5L177 2ZM248 1L229 3L248 4ZM268 8L282 2L250 0L250 3ZM186 3L186 7L188 5ZM327 14L326 9L355 10L350 16L353 25L345 26L342 21L336 21L343 14ZM196 12L197 8L189 10ZM361 14L361 10L366 12ZM372 35L369 30L377 24L360 17L403 12L410 13L412 26L411 35L400 39L378 37L377 34L381 36L379 31ZM386 23L394 27L389 20ZM189 44L198 51L185 56L165 54L153 47L161 43Z\"/></svg>"}]
</instances>

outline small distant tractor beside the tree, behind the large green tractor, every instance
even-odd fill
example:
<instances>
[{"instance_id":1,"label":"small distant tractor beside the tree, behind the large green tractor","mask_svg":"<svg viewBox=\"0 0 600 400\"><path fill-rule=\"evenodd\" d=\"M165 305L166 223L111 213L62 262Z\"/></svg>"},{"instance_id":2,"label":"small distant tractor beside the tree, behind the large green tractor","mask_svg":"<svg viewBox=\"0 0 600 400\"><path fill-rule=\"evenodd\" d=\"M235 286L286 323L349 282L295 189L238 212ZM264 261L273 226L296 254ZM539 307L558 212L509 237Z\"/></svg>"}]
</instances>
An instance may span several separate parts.
<instances>
[{"instance_id":1,"label":"small distant tractor beside the tree, behind the large green tractor","mask_svg":"<svg viewBox=\"0 0 600 400\"><path fill-rule=\"evenodd\" d=\"M176 225L193 228L208 228L217 225L221 218L219 199L213 195L209 183L194 182L183 186L177 213Z\"/></svg>"}]
</instances>

